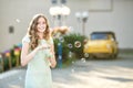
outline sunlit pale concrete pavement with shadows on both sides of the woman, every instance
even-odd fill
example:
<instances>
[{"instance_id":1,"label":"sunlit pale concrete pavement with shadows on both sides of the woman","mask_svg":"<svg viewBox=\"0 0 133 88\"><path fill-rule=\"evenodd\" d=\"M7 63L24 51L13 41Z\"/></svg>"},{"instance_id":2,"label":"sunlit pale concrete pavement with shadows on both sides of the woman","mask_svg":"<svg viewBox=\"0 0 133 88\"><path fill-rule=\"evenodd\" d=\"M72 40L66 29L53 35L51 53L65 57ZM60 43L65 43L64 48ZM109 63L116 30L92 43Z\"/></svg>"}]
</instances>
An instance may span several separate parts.
<instances>
[{"instance_id":1,"label":"sunlit pale concrete pavement with shadows on both sides of the woman","mask_svg":"<svg viewBox=\"0 0 133 88\"><path fill-rule=\"evenodd\" d=\"M0 74L0 88L24 88L25 69ZM78 61L52 69L53 88L133 88L133 55L116 59Z\"/></svg>"}]
</instances>

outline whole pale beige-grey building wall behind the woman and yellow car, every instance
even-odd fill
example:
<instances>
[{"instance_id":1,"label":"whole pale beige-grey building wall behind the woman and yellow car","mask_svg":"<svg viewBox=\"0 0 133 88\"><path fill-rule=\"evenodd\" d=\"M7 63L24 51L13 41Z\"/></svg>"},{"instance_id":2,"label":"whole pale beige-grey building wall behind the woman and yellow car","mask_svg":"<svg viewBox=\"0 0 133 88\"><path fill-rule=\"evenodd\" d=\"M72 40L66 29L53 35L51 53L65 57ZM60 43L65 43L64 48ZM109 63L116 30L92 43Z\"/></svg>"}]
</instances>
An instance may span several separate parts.
<instances>
[{"instance_id":1,"label":"whole pale beige-grey building wall behind the woman and yellow car","mask_svg":"<svg viewBox=\"0 0 133 88\"><path fill-rule=\"evenodd\" d=\"M33 14L44 13L52 25L50 6L50 0L0 0L0 52L21 43ZM133 48L133 0L68 0L68 7L71 8L71 14L66 24L73 26L74 32L82 33L75 12L89 10L86 35L92 31L114 31L121 48ZM9 25L14 26L13 34L9 34Z\"/></svg>"}]
</instances>

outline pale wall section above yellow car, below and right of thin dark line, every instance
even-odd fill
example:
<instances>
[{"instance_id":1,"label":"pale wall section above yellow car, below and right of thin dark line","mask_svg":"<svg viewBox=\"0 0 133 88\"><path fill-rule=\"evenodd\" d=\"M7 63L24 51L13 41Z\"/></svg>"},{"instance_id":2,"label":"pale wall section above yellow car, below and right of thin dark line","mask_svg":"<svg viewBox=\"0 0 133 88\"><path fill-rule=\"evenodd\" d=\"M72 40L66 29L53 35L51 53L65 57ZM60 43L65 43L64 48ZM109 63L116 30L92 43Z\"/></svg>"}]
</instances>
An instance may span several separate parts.
<instances>
[{"instance_id":1,"label":"pale wall section above yellow car, below and right of thin dark line","mask_svg":"<svg viewBox=\"0 0 133 88\"><path fill-rule=\"evenodd\" d=\"M133 0L114 0L111 12L90 13L88 28L114 31L121 48L133 48Z\"/></svg>"}]
</instances>

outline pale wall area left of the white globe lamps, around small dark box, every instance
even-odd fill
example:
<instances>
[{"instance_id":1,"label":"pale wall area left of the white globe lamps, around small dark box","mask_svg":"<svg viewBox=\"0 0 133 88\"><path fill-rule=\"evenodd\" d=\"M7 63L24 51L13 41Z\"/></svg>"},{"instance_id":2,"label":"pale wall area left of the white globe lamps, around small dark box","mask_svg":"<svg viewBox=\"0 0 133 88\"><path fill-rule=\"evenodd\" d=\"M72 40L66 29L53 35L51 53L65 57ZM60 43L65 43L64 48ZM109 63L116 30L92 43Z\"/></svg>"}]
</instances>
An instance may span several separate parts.
<instances>
[{"instance_id":1,"label":"pale wall area left of the white globe lamps, around small dark box","mask_svg":"<svg viewBox=\"0 0 133 88\"><path fill-rule=\"evenodd\" d=\"M21 43L35 13L44 13L50 18L48 12L50 6L50 0L0 0L0 52ZM19 23L17 19L20 20ZM13 34L9 33L9 25L14 26Z\"/></svg>"}]
</instances>

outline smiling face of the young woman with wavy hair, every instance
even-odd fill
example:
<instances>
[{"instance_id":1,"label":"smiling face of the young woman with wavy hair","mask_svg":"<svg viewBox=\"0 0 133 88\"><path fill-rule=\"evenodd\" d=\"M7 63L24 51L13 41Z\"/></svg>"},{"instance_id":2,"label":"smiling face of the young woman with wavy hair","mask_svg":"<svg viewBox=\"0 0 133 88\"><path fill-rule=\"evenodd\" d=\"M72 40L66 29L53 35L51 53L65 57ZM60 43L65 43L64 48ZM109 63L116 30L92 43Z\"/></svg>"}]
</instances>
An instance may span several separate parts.
<instances>
[{"instance_id":1,"label":"smiling face of the young woman with wavy hair","mask_svg":"<svg viewBox=\"0 0 133 88\"><path fill-rule=\"evenodd\" d=\"M37 30L38 32L43 33L45 31L47 28L47 22L43 18L39 18L38 20L38 25L37 25Z\"/></svg>"}]
</instances>

